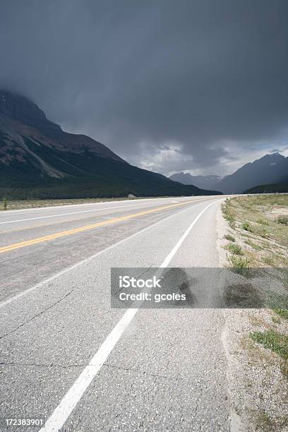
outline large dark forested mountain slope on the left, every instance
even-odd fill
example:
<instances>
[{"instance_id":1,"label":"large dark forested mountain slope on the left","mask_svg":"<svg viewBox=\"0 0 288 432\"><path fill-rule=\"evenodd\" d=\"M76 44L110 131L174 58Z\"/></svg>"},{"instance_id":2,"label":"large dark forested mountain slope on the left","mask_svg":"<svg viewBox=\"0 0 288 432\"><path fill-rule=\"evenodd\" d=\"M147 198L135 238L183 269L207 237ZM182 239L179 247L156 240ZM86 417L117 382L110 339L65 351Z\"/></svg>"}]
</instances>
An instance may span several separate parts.
<instances>
[{"instance_id":1,"label":"large dark forested mountain slope on the left","mask_svg":"<svg viewBox=\"0 0 288 432\"><path fill-rule=\"evenodd\" d=\"M36 104L0 90L0 198L210 195L133 167L105 145L64 132Z\"/></svg>"}]
</instances>

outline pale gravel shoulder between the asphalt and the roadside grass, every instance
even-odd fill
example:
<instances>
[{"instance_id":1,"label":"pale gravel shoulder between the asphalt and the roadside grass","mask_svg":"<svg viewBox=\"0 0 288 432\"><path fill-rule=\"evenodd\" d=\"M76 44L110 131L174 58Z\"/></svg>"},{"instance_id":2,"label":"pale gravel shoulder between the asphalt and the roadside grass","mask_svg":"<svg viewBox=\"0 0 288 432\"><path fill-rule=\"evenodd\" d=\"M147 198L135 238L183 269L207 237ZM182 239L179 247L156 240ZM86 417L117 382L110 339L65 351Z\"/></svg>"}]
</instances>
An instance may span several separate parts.
<instances>
[{"instance_id":1,"label":"pale gravel shoulder between the asphalt and the roadside grass","mask_svg":"<svg viewBox=\"0 0 288 432\"><path fill-rule=\"evenodd\" d=\"M234 198L233 198L234 199ZM235 225L217 212L220 267L230 266L227 234L243 244ZM256 234L253 234L256 236ZM226 238L225 238L226 236ZM273 239L265 241L273 245ZM277 245L281 248L281 245ZM232 431L288 431L288 371L282 356L251 335L270 332L287 337L288 321L268 308L224 309L222 342L227 354Z\"/></svg>"}]
</instances>

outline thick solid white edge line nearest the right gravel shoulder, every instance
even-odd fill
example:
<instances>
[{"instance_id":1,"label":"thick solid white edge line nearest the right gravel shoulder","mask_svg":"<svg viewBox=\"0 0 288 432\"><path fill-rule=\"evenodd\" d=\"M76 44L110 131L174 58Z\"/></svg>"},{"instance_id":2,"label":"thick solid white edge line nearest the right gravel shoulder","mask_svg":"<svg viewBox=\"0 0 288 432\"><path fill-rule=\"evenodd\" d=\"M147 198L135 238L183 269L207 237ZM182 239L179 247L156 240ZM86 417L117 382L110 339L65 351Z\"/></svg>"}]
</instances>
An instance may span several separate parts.
<instances>
[{"instance_id":1,"label":"thick solid white edge line nearest the right gravel shoulder","mask_svg":"<svg viewBox=\"0 0 288 432\"><path fill-rule=\"evenodd\" d=\"M172 251L164 259L163 263L160 265L160 268L164 269L167 267L167 265L169 265L169 262L172 260L176 251L178 251L179 247L186 239L186 236L188 236L189 232L191 232L191 229L194 227L196 222L200 219L203 213L212 204L215 204L216 202L217 201L213 201L212 203L207 205L204 210L199 213L196 219L193 220L188 229L186 229L186 232L184 232L183 236L181 236L179 241L177 241ZM72 385L72 387L68 390L66 395L59 403L58 407L56 407L52 415L46 421L44 426L40 429L40 432L56 432L59 431L62 426L64 426L66 420L68 419L68 416L70 416L71 412L83 396L85 390L88 388L97 373L100 371L100 368L102 368L104 362L107 360L107 357L112 352L112 349L115 347L116 343L119 341L126 328L128 328L128 325L133 320L138 309L139 308L129 308L128 311L124 313L124 316L122 316L121 320L119 320L119 323L115 325L112 332L104 340L96 354L90 360L88 366L86 366L80 373L80 376L78 376L75 383Z\"/></svg>"}]
</instances>

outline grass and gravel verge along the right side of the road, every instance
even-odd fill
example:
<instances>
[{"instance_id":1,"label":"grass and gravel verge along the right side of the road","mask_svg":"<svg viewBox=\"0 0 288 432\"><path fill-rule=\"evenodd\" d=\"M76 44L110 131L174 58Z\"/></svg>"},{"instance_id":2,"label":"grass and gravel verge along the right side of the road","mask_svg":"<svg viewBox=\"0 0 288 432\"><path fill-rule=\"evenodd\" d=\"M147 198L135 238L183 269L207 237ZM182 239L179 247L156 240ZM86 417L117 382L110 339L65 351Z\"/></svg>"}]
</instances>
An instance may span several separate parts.
<instances>
[{"instance_id":1,"label":"grass and gravel verge along the right side of the road","mask_svg":"<svg viewBox=\"0 0 288 432\"><path fill-rule=\"evenodd\" d=\"M247 430L288 431L288 195L229 198L222 214L226 265L242 282L229 294L251 300L226 312L233 401Z\"/></svg>"}]
</instances>

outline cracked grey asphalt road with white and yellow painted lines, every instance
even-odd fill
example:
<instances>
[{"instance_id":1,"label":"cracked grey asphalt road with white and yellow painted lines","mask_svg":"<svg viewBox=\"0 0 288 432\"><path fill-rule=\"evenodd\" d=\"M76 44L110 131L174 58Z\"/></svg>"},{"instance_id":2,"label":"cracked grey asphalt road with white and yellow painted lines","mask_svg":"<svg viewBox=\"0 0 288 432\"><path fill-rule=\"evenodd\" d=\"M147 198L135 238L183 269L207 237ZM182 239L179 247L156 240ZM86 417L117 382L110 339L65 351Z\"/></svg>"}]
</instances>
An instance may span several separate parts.
<instances>
[{"instance_id":1,"label":"cracked grey asphalt road with white and yellow painted lines","mask_svg":"<svg viewBox=\"0 0 288 432\"><path fill-rule=\"evenodd\" d=\"M217 267L222 201L0 212L1 431L229 431L221 310L110 306L112 267Z\"/></svg>"}]
</instances>

